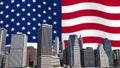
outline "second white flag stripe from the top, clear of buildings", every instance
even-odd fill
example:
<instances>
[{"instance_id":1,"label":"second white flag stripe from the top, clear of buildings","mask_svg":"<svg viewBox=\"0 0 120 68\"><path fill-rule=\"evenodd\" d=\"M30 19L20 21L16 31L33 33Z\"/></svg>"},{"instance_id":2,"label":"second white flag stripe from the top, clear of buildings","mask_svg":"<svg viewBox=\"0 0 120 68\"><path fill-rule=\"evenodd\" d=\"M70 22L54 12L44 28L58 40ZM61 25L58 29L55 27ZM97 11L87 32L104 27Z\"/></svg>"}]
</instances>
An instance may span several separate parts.
<instances>
[{"instance_id":1,"label":"second white flag stripe from the top, clear of buildings","mask_svg":"<svg viewBox=\"0 0 120 68\"><path fill-rule=\"evenodd\" d=\"M62 27L74 26L85 23L97 23L110 27L120 27L120 20L108 20L97 16L83 16L74 19L62 20Z\"/></svg>"}]
</instances>

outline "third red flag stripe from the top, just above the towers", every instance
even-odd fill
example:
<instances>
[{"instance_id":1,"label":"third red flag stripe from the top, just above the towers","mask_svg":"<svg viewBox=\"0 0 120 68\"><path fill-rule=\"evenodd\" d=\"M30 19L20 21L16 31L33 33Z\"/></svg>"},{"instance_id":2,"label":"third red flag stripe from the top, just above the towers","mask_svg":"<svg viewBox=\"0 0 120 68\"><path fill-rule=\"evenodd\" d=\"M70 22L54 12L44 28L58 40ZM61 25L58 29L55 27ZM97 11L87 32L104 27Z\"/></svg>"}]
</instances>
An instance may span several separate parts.
<instances>
[{"instance_id":1,"label":"third red flag stripe from the top, just above the towers","mask_svg":"<svg viewBox=\"0 0 120 68\"><path fill-rule=\"evenodd\" d=\"M120 33L120 27L109 27L109 26L105 26L97 23L85 23L85 24L78 24L70 27L62 27L62 33L71 33L71 32L76 32L80 30L87 30L87 29L101 30L108 33Z\"/></svg>"}]
</instances>

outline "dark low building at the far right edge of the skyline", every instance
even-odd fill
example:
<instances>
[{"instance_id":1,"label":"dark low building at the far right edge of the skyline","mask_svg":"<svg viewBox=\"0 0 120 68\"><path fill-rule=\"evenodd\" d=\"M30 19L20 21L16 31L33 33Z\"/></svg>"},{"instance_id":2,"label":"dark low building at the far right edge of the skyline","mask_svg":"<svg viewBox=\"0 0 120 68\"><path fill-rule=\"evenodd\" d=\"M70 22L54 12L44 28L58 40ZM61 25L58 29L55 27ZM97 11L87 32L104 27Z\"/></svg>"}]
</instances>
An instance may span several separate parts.
<instances>
[{"instance_id":1,"label":"dark low building at the far right edge of the skyline","mask_svg":"<svg viewBox=\"0 0 120 68\"><path fill-rule=\"evenodd\" d=\"M113 50L114 66L120 66L120 50Z\"/></svg>"}]
</instances>

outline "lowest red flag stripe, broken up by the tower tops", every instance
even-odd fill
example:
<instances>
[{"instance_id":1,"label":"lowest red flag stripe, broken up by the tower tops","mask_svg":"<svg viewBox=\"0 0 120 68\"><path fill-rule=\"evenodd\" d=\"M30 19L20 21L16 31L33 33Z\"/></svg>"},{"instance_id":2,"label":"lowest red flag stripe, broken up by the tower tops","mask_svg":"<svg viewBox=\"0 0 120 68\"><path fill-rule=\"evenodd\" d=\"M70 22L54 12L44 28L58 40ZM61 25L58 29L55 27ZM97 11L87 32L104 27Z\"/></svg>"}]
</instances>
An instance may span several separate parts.
<instances>
[{"instance_id":1,"label":"lowest red flag stripe, broken up by the tower tops","mask_svg":"<svg viewBox=\"0 0 120 68\"><path fill-rule=\"evenodd\" d=\"M100 43L102 44L104 38L100 38L100 37L83 37L83 43ZM65 40L65 46L68 46L68 40ZM120 40L119 41L115 41L115 40L111 40L111 45L113 47L120 47Z\"/></svg>"}]
</instances>

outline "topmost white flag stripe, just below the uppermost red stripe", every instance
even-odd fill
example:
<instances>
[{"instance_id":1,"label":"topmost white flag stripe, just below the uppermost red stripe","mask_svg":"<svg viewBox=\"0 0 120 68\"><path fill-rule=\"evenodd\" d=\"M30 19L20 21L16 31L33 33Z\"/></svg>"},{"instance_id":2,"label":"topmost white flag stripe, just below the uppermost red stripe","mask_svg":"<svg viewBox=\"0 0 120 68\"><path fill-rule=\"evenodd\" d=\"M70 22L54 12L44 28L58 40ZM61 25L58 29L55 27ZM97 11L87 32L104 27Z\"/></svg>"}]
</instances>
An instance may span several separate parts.
<instances>
[{"instance_id":1,"label":"topmost white flag stripe, just below the uppermost red stripe","mask_svg":"<svg viewBox=\"0 0 120 68\"><path fill-rule=\"evenodd\" d=\"M78 10L93 9L106 13L120 13L120 6L106 6L98 3L86 2L69 6L62 6L62 13L70 13Z\"/></svg>"}]
</instances>

